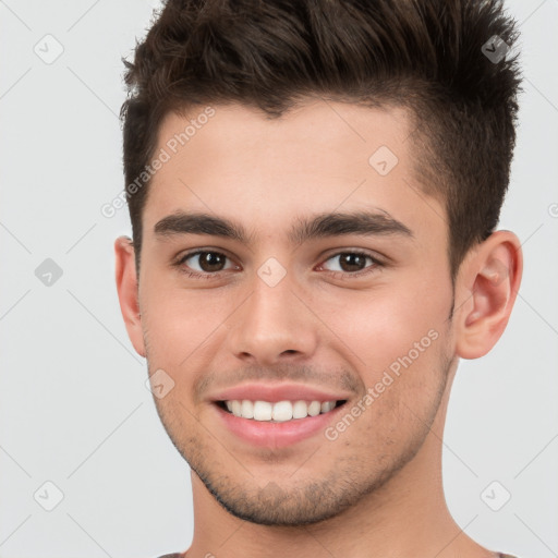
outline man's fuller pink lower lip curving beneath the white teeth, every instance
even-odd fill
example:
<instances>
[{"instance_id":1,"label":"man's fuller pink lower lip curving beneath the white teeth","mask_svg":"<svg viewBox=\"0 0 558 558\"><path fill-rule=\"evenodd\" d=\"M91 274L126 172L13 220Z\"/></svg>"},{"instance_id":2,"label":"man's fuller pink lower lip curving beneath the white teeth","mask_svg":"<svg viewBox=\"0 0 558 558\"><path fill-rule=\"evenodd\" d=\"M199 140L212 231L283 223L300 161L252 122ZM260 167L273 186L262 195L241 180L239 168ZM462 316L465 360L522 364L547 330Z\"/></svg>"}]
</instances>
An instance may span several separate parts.
<instances>
[{"instance_id":1,"label":"man's fuller pink lower lip curving beneath the white teeth","mask_svg":"<svg viewBox=\"0 0 558 558\"><path fill-rule=\"evenodd\" d=\"M253 446L284 448L305 440L319 432L324 432L345 404L336 407L331 411L316 416L294 418L283 423L243 418L225 411L216 403L214 403L214 407L217 409L227 428L239 438Z\"/></svg>"}]
</instances>

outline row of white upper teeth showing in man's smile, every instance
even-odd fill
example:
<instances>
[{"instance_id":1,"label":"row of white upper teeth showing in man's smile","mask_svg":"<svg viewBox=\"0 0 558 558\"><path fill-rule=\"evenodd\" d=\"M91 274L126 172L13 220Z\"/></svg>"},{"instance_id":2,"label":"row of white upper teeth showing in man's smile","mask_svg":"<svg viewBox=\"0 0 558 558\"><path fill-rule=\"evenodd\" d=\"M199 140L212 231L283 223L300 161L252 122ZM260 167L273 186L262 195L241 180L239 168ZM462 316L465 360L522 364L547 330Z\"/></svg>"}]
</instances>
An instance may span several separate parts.
<instances>
[{"instance_id":1,"label":"row of white upper teeth showing in man's smile","mask_svg":"<svg viewBox=\"0 0 558 558\"><path fill-rule=\"evenodd\" d=\"M254 421L287 422L292 418L306 418L328 413L336 407L336 401L250 401L248 399L225 401L229 412L234 416Z\"/></svg>"}]
</instances>

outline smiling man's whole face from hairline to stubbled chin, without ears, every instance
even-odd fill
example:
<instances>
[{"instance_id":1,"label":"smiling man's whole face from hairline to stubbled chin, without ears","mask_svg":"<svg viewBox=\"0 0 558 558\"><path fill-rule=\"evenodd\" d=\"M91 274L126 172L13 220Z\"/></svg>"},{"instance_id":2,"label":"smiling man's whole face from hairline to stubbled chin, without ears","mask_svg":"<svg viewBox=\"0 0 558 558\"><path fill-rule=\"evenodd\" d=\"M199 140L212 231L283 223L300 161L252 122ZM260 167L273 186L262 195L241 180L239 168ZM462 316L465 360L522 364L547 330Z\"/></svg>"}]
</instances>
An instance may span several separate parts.
<instances>
[{"instance_id":1,"label":"smiling man's whole face from hairline to stubbled chin, without ears","mask_svg":"<svg viewBox=\"0 0 558 558\"><path fill-rule=\"evenodd\" d=\"M169 140L203 109L159 133L171 157L145 207L138 301L149 373L174 386L155 401L230 512L315 522L396 477L438 411L454 354L445 209L413 175L401 110L214 108L175 154ZM247 416L259 401L264 420L226 400Z\"/></svg>"}]
</instances>

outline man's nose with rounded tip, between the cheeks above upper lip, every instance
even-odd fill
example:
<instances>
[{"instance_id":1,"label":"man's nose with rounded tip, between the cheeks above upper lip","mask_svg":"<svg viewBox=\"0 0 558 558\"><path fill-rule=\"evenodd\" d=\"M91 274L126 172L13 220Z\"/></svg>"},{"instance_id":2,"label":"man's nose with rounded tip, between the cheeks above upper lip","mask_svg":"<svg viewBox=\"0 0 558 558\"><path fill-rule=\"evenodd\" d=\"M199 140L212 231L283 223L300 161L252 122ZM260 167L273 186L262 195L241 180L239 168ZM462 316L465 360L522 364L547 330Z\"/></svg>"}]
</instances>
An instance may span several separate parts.
<instances>
[{"instance_id":1,"label":"man's nose with rounded tip, between the cheeks above upper lip","mask_svg":"<svg viewBox=\"0 0 558 558\"><path fill-rule=\"evenodd\" d=\"M269 366L286 360L306 360L316 351L318 320L284 277L270 287L259 277L247 300L233 316L228 337L240 360Z\"/></svg>"}]
</instances>

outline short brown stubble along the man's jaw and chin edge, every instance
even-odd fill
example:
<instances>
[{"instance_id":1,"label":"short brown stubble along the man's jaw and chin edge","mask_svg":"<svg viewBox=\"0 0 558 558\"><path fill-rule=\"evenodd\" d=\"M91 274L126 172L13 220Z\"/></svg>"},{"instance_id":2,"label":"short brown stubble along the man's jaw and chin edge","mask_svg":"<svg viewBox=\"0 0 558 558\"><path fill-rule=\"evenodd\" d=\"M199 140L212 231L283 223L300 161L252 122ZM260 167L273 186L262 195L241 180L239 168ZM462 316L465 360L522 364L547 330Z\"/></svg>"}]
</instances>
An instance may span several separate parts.
<instances>
[{"instance_id":1,"label":"short brown stubble along the man's jaw and chin edge","mask_svg":"<svg viewBox=\"0 0 558 558\"><path fill-rule=\"evenodd\" d=\"M451 311L446 320L448 329L451 326L453 307L454 298L452 296ZM149 363L147 342L146 359ZM415 435L412 444L407 446L403 452L395 457L390 465L385 466L375 476L364 480L362 471L366 469L367 463L361 461L361 466L355 469L354 459L341 456L340 462L336 463L327 473L327 476L319 482L312 481L306 483L305 486L295 486L288 489L275 481L270 481L256 488L258 483L255 482L254 476L245 466L241 466L242 463L239 458L228 451L225 446L223 449L228 452L227 457L231 460L232 465L238 465L241 471L240 474L245 477L243 482L235 481L228 473L228 471L233 471L233 468L227 468L223 463L220 464L220 468L208 465L206 456L214 456L215 449L204 445L201 437L195 433L195 428L186 439L174 435L175 432L180 433L182 429L179 424L181 413L190 415L190 421L193 421L192 424L195 425L197 422L197 417L190 413L184 404L179 402L178 405L174 405L173 412L167 413L161 401L155 399L155 403L159 418L173 446L225 510L239 519L255 524L294 527L316 524L342 514L343 511L357 505L366 496L380 490L390 478L397 475L416 456L438 412L452 360L453 357L446 354L438 355L439 369L442 371L441 381L439 381L438 391L430 402L428 416L423 420L422 430ZM417 418L417 421L421 420ZM203 425L198 422L197 424L202 426L203 430ZM215 436L209 436L208 439L217 442ZM316 456L318 454L319 451L316 452ZM316 459L316 456L313 456L312 459ZM272 451L269 458L272 460ZM252 489L245 488L245 486L252 486Z\"/></svg>"}]
</instances>

